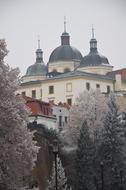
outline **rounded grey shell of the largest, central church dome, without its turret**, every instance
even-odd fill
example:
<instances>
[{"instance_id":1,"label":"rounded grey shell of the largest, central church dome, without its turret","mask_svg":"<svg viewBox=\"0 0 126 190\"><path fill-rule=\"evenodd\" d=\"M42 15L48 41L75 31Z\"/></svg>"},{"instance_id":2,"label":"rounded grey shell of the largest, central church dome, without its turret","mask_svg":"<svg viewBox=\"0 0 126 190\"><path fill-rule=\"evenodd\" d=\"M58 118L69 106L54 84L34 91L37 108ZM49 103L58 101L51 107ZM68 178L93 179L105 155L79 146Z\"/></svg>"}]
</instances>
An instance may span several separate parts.
<instances>
[{"instance_id":1,"label":"rounded grey shell of the largest, central church dome, without its turret","mask_svg":"<svg viewBox=\"0 0 126 190\"><path fill-rule=\"evenodd\" d=\"M81 53L70 45L61 45L53 50L50 55L49 62L69 61L82 59Z\"/></svg>"}]
</instances>

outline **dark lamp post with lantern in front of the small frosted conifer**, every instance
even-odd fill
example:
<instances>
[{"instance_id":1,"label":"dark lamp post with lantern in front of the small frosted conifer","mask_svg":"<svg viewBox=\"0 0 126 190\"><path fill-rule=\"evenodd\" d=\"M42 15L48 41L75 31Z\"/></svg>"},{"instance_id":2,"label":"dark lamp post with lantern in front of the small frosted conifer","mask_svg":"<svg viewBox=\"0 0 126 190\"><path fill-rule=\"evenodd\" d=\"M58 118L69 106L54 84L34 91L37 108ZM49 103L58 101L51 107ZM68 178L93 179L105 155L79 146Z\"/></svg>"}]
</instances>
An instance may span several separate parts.
<instances>
[{"instance_id":1,"label":"dark lamp post with lantern in front of the small frosted conifer","mask_svg":"<svg viewBox=\"0 0 126 190\"><path fill-rule=\"evenodd\" d=\"M56 190L57 188L57 154L58 154L58 141L57 139L54 140L53 142L53 154L54 154L54 158L55 158L55 186L56 186Z\"/></svg>"}]
</instances>

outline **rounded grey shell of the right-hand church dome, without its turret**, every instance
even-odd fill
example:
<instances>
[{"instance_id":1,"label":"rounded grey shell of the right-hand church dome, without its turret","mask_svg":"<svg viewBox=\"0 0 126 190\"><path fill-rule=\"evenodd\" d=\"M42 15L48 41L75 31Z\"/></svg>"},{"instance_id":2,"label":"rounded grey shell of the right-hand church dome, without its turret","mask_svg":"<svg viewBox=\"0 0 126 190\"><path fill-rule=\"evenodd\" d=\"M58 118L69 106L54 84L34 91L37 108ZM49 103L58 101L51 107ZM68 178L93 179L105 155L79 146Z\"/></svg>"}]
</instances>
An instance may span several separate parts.
<instances>
[{"instance_id":1,"label":"rounded grey shell of the right-hand church dome, without its turret","mask_svg":"<svg viewBox=\"0 0 126 190\"><path fill-rule=\"evenodd\" d=\"M100 55L98 52L90 52L87 56L83 57L80 67L97 66L102 64L108 65L108 59L105 56Z\"/></svg>"}]
</instances>

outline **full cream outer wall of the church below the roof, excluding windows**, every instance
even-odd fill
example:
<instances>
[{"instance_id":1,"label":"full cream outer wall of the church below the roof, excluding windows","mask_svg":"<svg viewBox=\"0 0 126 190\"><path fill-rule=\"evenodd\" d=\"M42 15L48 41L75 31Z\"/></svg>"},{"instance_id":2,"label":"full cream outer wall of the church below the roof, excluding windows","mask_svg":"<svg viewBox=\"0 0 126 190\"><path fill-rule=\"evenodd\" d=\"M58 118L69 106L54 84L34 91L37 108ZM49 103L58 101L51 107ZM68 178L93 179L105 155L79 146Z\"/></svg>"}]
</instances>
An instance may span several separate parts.
<instances>
[{"instance_id":1,"label":"full cream outer wall of the church below the roof, excluding windows","mask_svg":"<svg viewBox=\"0 0 126 190\"><path fill-rule=\"evenodd\" d=\"M90 83L90 89L96 89L96 84L100 85L101 92L107 93L107 85L113 91L113 82L108 80L94 80L93 78L72 78L61 80L45 80L39 85L21 86L17 93L26 92L26 96L32 97L32 90L36 90L36 98L42 101L67 102L72 99L72 104L81 92L86 90L86 83ZM67 85L71 84L71 91L67 91ZM49 94L49 86L54 86L54 93Z\"/></svg>"}]
</instances>

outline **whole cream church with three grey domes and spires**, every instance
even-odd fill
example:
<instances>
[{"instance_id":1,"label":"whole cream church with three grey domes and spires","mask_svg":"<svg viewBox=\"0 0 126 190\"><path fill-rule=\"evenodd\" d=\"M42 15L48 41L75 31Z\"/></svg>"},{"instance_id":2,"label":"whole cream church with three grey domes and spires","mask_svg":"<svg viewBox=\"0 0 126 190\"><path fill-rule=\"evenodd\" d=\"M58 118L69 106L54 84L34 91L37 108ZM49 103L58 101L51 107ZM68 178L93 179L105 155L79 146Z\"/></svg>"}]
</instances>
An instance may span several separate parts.
<instances>
[{"instance_id":1,"label":"whole cream church with three grey domes and spires","mask_svg":"<svg viewBox=\"0 0 126 190\"><path fill-rule=\"evenodd\" d=\"M64 21L61 44L52 51L47 64L38 40L36 61L27 68L17 93L45 102L72 105L81 92L90 89L126 97L126 68L113 71L107 57L98 51L93 28L89 53L83 56L71 46Z\"/></svg>"}]
</instances>

